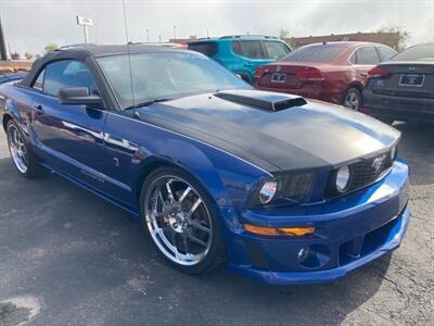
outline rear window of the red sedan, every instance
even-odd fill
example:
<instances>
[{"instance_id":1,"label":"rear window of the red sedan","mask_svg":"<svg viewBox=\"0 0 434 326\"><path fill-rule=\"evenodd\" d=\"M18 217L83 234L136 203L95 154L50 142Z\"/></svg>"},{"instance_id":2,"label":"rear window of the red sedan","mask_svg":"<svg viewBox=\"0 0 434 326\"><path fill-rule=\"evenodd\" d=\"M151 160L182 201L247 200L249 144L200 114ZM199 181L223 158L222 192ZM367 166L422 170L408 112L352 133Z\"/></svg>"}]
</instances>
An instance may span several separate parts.
<instances>
[{"instance_id":1,"label":"rear window of the red sedan","mask_svg":"<svg viewBox=\"0 0 434 326\"><path fill-rule=\"evenodd\" d=\"M281 61L331 62L345 49L341 45L305 46L286 54Z\"/></svg>"}]
</instances>

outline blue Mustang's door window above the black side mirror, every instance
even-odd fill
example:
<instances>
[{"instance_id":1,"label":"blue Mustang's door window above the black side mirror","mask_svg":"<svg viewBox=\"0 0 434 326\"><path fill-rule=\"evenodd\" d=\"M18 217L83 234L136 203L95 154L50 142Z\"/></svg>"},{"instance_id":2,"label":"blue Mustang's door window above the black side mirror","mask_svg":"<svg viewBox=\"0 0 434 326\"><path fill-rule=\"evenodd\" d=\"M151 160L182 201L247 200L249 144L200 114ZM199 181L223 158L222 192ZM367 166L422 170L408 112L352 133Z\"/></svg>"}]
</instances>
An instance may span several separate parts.
<instances>
[{"instance_id":1,"label":"blue Mustang's door window above the black side mirror","mask_svg":"<svg viewBox=\"0 0 434 326\"><path fill-rule=\"evenodd\" d=\"M84 63L76 60L56 61L46 67L43 92L56 97L64 87L87 87L90 93L98 92L92 74Z\"/></svg>"}]
</instances>

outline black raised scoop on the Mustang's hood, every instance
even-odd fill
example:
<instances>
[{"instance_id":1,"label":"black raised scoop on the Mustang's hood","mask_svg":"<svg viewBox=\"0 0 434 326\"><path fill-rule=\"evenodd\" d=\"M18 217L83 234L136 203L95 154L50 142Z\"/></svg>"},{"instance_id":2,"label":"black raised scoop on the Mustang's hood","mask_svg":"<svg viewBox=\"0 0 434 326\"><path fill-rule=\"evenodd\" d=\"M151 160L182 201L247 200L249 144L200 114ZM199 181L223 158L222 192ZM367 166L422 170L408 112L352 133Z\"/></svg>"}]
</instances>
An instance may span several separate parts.
<instances>
[{"instance_id":1,"label":"black raised scoop on the Mustang's hood","mask_svg":"<svg viewBox=\"0 0 434 326\"><path fill-rule=\"evenodd\" d=\"M214 93L214 96L237 104L248 105L269 112L278 112L307 104L306 100L302 97L261 90L222 90Z\"/></svg>"}]
</instances>

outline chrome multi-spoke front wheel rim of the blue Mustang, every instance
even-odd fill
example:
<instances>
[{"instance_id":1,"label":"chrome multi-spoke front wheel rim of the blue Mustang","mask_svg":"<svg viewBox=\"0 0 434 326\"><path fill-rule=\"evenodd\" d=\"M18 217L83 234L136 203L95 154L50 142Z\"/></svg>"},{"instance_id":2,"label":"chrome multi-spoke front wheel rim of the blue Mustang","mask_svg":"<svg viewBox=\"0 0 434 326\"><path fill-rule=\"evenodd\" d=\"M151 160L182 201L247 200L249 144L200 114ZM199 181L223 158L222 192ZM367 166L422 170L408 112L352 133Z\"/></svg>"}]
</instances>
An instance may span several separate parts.
<instances>
[{"instance_id":1,"label":"chrome multi-spoke front wheel rim of the blue Mustang","mask_svg":"<svg viewBox=\"0 0 434 326\"><path fill-rule=\"evenodd\" d=\"M202 262L213 240L212 218L199 192L178 176L155 178L144 197L151 237L173 262L192 266Z\"/></svg>"}]
</instances>

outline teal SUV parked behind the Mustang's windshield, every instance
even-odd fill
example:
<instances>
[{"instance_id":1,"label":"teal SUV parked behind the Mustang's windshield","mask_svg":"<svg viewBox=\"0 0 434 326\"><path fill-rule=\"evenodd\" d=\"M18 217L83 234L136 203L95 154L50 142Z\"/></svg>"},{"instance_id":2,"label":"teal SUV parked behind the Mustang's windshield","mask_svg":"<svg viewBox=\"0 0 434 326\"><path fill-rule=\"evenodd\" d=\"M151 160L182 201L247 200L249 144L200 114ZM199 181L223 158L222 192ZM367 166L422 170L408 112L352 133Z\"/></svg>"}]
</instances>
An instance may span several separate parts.
<instances>
[{"instance_id":1,"label":"teal SUV parked behind the Mustang's windshield","mask_svg":"<svg viewBox=\"0 0 434 326\"><path fill-rule=\"evenodd\" d=\"M280 59L291 51L291 47L272 36L237 35L197 39L189 43L189 50L214 59L253 84L259 65Z\"/></svg>"}]
</instances>

